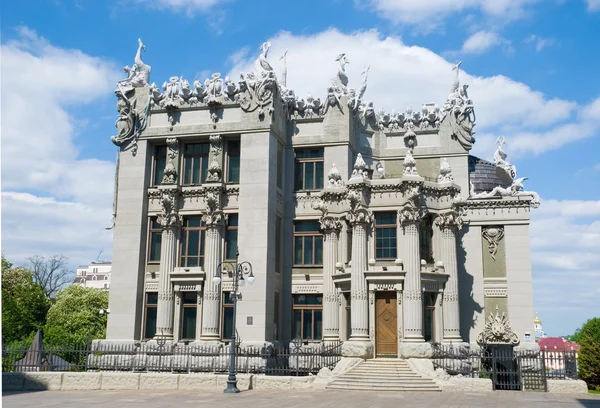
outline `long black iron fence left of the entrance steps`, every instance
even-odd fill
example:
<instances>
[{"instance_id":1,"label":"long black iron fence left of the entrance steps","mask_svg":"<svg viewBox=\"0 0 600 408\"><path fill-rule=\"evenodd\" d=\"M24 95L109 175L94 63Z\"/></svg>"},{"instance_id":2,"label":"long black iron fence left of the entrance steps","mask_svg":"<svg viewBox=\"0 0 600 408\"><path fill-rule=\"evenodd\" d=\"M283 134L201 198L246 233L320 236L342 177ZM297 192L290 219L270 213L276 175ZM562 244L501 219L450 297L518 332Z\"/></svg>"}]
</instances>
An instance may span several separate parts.
<instances>
[{"instance_id":1,"label":"long black iron fence left of the entrance steps","mask_svg":"<svg viewBox=\"0 0 600 408\"><path fill-rule=\"evenodd\" d=\"M238 345L238 373L302 376L333 369L341 359L341 342ZM131 371L169 373L226 373L227 344L201 346L182 343L87 343L42 350L7 349L2 371Z\"/></svg>"}]
</instances>

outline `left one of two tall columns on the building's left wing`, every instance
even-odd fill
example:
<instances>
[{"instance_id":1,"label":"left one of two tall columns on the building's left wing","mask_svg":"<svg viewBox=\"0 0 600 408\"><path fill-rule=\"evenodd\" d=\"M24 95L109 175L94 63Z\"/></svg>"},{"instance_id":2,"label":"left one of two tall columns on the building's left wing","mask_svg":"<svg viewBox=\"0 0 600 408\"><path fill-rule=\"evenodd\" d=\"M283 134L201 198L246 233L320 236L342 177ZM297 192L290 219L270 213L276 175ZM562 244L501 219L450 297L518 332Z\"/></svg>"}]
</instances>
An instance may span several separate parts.
<instances>
[{"instance_id":1,"label":"left one of two tall columns on the building's left wing","mask_svg":"<svg viewBox=\"0 0 600 408\"><path fill-rule=\"evenodd\" d=\"M171 219L172 221L172 219ZM177 265L178 222L159 217L163 225L160 245L160 269L158 281L158 305L155 338L173 338L173 286L169 274Z\"/></svg>"}]
</instances>

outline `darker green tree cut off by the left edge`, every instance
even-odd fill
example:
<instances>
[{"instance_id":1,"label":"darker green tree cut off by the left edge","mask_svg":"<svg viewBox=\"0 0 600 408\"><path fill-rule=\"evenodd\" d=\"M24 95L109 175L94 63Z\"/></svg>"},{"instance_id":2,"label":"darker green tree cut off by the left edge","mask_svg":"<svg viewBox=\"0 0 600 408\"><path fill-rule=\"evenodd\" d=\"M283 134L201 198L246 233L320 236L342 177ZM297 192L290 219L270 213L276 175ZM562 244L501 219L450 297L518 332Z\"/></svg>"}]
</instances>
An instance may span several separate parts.
<instances>
[{"instance_id":1,"label":"darker green tree cut off by the left edge","mask_svg":"<svg viewBox=\"0 0 600 408\"><path fill-rule=\"evenodd\" d=\"M13 268L2 257L2 337L6 343L24 342L46 322L50 301L34 283L29 269Z\"/></svg>"}]
</instances>

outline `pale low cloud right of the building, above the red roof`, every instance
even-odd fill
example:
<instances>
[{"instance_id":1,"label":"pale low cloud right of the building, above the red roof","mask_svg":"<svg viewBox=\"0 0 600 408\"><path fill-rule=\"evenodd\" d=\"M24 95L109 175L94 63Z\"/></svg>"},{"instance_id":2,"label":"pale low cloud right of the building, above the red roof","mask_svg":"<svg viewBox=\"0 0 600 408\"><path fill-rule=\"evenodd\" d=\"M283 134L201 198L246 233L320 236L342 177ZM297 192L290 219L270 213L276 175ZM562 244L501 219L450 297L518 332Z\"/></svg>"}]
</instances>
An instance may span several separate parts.
<instances>
[{"instance_id":1,"label":"pale low cloud right of the building, above the red roof","mask_svg":"<svg viewBox=\"0 0 600 408\"><path fill-rule=\"evenodd\" d=\"M600 310L600 201L543 200L531 218L535 306L547 332L570 334Z\"/></svg>"}]
</instances>

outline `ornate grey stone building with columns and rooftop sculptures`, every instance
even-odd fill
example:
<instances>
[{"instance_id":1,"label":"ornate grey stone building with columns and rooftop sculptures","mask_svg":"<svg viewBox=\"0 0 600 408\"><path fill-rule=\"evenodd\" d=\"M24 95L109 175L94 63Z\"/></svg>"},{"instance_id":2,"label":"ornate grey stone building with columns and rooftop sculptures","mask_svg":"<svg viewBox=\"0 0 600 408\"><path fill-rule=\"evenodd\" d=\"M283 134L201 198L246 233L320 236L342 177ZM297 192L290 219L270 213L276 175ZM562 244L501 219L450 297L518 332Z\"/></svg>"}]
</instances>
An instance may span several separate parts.
<instances>
[{"instance_id":1,"label":"ornate grey stone building with columns and rooftop sculptures","mask_svg":"<svg viewBox=\"0 0 600 408\"><path fill-rule=\"evenodd\" d=\"M261 47L239 82L120 81L107 339L222 341L232 280L243 342L344 341L356 356L420 356L433 342L535 345L529 211L537 195L506 161L469 155L473 104L459 66L446 103L375 113L348 88L296 96ZM333 63L332 63L333 65ZM490 320L491 319L491 320ZM492 337L490 337L492 336ZM508 341L508 340L507 340Z\"/></svg>"}]
</instances>

